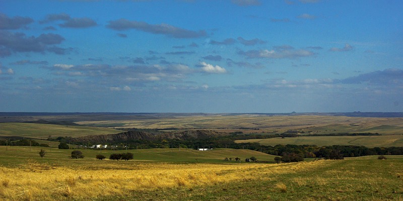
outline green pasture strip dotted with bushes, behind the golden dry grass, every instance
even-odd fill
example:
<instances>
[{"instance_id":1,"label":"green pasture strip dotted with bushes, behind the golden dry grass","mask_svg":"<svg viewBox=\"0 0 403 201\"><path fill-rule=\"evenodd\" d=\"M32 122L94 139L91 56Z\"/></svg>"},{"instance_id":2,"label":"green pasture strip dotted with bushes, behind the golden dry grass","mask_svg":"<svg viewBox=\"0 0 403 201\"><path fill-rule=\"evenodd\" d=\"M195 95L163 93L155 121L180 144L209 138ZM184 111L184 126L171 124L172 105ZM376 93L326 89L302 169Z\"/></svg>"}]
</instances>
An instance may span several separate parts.
<instances>
[{"instance_id":1,"label":"green pasture strip dotted with bushes, behind the golden dry grass","mask_svg":"<svg viewBox=\"0 0 403 201\"><path fill-rule=\"evenodd\" d=\"M40 158L39 151L46 151L45 157ZM80 150L85 156L84 159L70 159L73 150ZM92 150L92 149L57 149L54 147L28 147L28 146L0 146L0 165L14 166L24 164L27 160L42 161L56 165L81 165L81 164L101 164L110 161L108 158L113 153L133 153L132 161L143 162L208 162L223 163L224 158L239 157L244 162L245 158L252 156L261 161L274 161L274 155L269 155L253 150L242 149L213 149L209 151L198 151L193 149L138 149L138 150ZM99 161L96 155L102 154L107 159ZM124 161L118 161L124 162ZM229 161L234 162L234 161Z\"/></svg>"}]
</instances>

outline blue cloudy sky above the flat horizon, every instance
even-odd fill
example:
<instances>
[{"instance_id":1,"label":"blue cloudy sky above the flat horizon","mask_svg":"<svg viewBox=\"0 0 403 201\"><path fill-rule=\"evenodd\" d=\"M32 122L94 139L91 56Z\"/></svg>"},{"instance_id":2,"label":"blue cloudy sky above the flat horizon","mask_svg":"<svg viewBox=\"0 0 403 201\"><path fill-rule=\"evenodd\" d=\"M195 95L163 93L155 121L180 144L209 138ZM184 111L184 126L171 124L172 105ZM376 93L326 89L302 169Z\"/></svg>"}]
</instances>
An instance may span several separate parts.
<instances>
[{"instance_id":1,"label":"blue cloudy sky above the flat horizon","mask_svg":"<svg viewBox=\"0 0 403 201\"><path fill-rule=\"evenodd\" d=\"M400 0L0 0L0 112L403 112Z\"/></svg>"}]
</instances>

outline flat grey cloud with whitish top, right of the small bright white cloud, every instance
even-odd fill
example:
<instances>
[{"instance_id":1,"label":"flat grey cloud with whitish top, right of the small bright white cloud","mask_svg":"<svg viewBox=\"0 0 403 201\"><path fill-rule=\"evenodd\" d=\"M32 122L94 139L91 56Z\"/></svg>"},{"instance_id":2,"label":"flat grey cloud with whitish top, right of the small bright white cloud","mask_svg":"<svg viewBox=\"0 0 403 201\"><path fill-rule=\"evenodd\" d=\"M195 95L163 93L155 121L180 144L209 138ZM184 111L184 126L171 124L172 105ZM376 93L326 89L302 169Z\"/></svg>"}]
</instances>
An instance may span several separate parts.
<instances>
[{"instance_id":1,"label":"flat grey cloud with whitish top, right of the small bright white cloud","mask_svg":"<svg viewBox=\"0 0 403 201\"><path fill-rule=\"evenodd\" d=\"M294 49L291 46L275 46L272 50L249 50L238 51L238 54L244 55L248 58L298 58L308 57L315 55L314 52L305 49Z\"/></svg>"}]
</instances>

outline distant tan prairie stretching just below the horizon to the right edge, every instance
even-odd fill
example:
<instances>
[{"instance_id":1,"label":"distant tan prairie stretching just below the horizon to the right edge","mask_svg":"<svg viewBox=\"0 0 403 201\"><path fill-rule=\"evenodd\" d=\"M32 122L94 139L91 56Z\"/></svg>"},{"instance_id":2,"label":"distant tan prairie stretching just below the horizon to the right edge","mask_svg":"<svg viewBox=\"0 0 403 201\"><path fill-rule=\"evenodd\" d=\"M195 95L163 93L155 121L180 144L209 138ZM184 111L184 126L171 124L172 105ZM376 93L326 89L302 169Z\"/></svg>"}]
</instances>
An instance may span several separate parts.
<instances>
[{"instance_id":1,"label":"distant tan prairie stretching just below the horizon to the right edge","mask_svg":"<svg viewBox=\"0 0 403 201\"><path fill-rule=\"evenodd\" d=\"M403 118L368 118L344 116L266 116L266 115L195 115L127 120L78 121L87 126L139 129L215 129L244 133L282 133L289 130L312 134L380 133L403 134ZM258 131L257 131L258 129Z\"/></svg>"}]
</instances>

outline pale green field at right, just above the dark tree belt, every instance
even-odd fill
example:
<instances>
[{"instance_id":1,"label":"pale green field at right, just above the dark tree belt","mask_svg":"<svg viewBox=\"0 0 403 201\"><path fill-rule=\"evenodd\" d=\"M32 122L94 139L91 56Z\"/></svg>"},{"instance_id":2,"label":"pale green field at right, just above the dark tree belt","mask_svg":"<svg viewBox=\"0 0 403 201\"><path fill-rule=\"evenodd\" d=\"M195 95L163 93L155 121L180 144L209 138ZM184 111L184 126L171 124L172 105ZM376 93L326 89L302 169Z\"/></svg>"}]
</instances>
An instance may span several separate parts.
<instances>
[{"instance_id":1,"label":"pale green field at right, just above the dark tree belt","mask_svg":"<svg viewBox=\"0 0 403 201\"><path fill-rule=\"evenodd\" d=\"M373 147L403 147L403 135L385 136L299 136L295 138L267 138L236 140L236 143L259 143L261 145L276 146L278 144L287 145L354 145Z\"/></svg>"}]
</instances>

